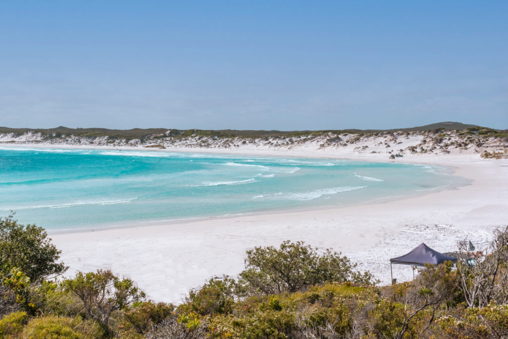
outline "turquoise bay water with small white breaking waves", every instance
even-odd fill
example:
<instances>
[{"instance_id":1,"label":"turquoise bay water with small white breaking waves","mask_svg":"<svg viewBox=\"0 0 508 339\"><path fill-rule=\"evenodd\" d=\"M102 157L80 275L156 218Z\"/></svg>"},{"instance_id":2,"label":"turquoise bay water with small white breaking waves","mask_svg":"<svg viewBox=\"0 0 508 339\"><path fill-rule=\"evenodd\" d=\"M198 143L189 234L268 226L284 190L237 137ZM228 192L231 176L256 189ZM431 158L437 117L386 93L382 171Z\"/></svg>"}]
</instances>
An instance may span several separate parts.
<instances>
[{"instance_id":1,"label":"turquoise bay water with small white breaking waves","mask_svg":"<svg viewBox=\"0 0 508 339\"><path fill-rule=\"evenodd\" d=\"M465 184L446 168L165 151L0 148L0 215L49 230L356 204Z\"/></svg>"}]
</instances>

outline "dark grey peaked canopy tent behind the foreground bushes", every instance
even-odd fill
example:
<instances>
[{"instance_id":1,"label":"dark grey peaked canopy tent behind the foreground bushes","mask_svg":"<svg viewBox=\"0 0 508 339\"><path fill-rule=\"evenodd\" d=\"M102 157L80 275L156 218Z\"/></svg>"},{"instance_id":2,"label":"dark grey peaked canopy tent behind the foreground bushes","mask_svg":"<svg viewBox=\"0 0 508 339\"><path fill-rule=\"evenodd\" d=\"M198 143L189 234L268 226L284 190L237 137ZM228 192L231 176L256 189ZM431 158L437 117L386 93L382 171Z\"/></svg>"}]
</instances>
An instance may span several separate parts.
<instances>
[{"instance_id":1,"label":"dark grey peaked canopy tent behind the foreground bushes","mask_svg":"<svg viewBox=\"0 0 508 339\"><path fill-rule=\"evenodd\" d=\"M439 265L445 261L456 262L457 258L447 256L446 254L439 253L432 250L425 243L421 243L412 249L411 252L403 256L390 259L390 273L392 274L393 283L393 264L410 265L413 267L413 278L415 278L416 266L425 266L425 264Z\"/></svg>"}]
</instances>

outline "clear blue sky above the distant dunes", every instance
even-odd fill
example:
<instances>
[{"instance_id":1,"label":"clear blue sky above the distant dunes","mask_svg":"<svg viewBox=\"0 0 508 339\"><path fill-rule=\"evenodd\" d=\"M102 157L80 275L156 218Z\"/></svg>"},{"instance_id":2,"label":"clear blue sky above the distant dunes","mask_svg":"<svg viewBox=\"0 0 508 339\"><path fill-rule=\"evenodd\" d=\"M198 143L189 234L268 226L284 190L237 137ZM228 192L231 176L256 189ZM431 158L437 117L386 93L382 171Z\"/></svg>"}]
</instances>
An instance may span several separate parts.
<instances>
[{"instance_id":1,"label":"clear blue sky above the distant dunes","mask_svg":"<svg viewBox=\"0 0 508 339\"><path fill-rule=\"evenodd\" d=\"M508 2L2 1L0 126L508 129Z\"/></svg>"}]
</instances>

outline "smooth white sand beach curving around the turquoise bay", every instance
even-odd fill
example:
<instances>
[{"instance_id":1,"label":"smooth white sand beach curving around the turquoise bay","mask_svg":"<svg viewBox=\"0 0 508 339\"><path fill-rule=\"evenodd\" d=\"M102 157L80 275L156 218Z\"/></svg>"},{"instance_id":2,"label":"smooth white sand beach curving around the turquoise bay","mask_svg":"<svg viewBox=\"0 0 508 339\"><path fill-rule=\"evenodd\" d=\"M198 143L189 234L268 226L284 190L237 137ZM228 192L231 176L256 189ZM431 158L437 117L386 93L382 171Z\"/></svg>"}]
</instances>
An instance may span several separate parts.
<instances>
[{"instance_id":1,"label":"smooth white sand beach curving around the turquoise bay","mask_svg":"<svg viewBox=\"0 0 508 339\"><path fill-rule=\"evenodd\" d=\"M137 148L139 149L139 148ZM188 149L170 149L189 151ZM194 149L193 151L232 152ZM386 155L300 150L235 150L260 156L298 156L389 161ZM189 289L214 275L236 275L247 249L303 240L319 249L340 251L390 282L389 259L425 242L453 251L457 241L487 239L495 226L508 224L508 161L478 154L404 156L397 162L450 166L468 186L399 200L330 209L247 214L186 222L161 222L100 231L51 234L62 260L76 271L111 269L137 282L156 301L179 302ZM398 281L412 278L407 266L393 269Z\"/></svg>"}]
</instances>

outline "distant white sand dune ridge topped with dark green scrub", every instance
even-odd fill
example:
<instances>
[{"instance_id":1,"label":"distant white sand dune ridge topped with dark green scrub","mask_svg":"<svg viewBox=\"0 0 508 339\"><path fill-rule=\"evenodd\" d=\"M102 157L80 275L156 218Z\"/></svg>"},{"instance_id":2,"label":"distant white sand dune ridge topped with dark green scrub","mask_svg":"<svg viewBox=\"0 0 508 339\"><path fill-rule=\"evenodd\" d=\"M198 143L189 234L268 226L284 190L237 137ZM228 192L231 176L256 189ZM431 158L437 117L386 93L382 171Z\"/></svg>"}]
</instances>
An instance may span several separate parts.
<instances>
[{"instance_id":1,"label":"distant white sand dune ridge topped with dark green scrub","mask_svg":"<svg viewBox=\"0 0 508 339\"><path fill-rule=\"evenodd\" d=\"M12 129L0 127L0 143L87 147L147 147L231 150L346 151L404 155L475 153L505 156L508 130L460 122L392 130L238 131L102 128Z\"/></svg>"}]
</instances>

